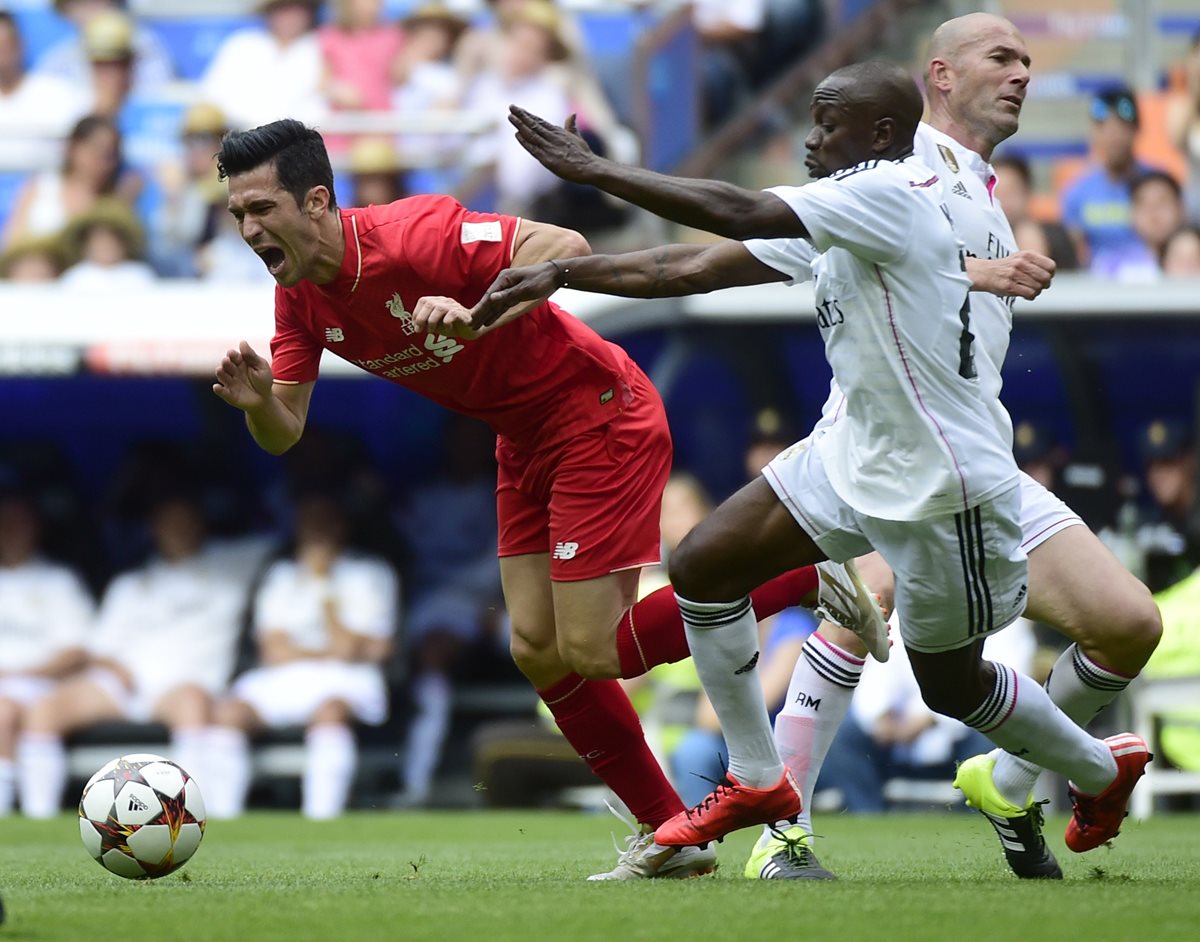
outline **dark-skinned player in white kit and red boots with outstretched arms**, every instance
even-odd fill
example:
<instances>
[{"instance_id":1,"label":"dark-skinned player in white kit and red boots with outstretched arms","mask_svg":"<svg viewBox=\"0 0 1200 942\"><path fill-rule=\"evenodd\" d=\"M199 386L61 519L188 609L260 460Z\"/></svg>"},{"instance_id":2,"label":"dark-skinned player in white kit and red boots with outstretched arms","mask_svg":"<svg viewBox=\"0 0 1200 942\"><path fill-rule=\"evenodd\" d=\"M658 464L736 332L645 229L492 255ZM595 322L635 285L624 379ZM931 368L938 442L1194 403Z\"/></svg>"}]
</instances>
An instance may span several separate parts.
<instances>
[{"instance_id":1,"label":"dark-skinned player in white kit and red boots with outstretched arms","mask_svg":"<svg viewBox=\"0 0 1200 942\"><path fill-rule=\"evenodd\" d=\"M509 271L472 312L476 325L565 286L655 298L811 276L841 390L822 428L785 450L672 557L671 582L730 767L713 794L660 826L655 841L704 845L799 812L799 786L775 749L754 677L746 593L774 572L872 548L896 574L901 635L925 702L1067 775L1088 800L1104 799L1106 809L1120 800L1123 811L1135 754L1117 755L1032 680L982 658L983 638L1025 607L1020 479L1010 422L976 366L971 281L938 178L913 156L920 92L899 66L868 62L822 82L811 107L805 164L816 182L766 192L617 164L590 154L572 128L512 109L521 143L559 175L751 241Z\"/></svg>"}]
</instances>

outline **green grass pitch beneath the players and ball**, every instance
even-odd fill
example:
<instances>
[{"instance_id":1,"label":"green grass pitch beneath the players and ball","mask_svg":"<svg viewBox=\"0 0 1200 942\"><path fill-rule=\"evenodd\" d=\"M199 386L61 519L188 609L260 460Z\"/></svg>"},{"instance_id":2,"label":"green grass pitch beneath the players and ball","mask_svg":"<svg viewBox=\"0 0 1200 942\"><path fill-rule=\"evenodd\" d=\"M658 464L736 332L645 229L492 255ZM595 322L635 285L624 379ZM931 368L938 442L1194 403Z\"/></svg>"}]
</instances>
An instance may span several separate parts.
<instances>
[{"instance_id":1,"label":"green grass pitch beneath the players and ball","mask_svg":"<svg viewBox=\"0 0 1200 942\"><path fill-rule=\"evenodd\" d=\"M104 871L73 817L0 821L7 940L480 940L1015 942L1200 938L1200 817L1128 823L1082 857L1048 822L1067 878L1024 883L976 815L826 817L836 883L751 882L751 832L714 877L586 883L617 822L580 814L257 814L209 827L156 882Z\"/></svg>"}]
</instances>

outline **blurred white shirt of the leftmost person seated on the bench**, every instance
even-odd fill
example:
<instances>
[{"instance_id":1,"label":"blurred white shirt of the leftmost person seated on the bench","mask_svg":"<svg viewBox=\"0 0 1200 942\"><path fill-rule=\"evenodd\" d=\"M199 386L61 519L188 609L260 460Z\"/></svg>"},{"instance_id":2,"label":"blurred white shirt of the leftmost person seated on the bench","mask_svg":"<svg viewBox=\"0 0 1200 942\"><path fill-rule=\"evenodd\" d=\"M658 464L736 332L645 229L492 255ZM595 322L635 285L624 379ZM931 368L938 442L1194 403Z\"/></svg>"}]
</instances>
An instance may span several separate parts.
<instances>
[{"instance_id":1,"label":"blurred white shirt of the leftmost person seated on the bench","mask_svg":"<svg viewBox=\"0 0 1200 942\"><path fill-rule=\"evenodd\" d=\"M73 571L44 559L0 566L0 668L36 671L71 648L83 648L95 616L91 595Z\"/></svg>"}]
</instances>

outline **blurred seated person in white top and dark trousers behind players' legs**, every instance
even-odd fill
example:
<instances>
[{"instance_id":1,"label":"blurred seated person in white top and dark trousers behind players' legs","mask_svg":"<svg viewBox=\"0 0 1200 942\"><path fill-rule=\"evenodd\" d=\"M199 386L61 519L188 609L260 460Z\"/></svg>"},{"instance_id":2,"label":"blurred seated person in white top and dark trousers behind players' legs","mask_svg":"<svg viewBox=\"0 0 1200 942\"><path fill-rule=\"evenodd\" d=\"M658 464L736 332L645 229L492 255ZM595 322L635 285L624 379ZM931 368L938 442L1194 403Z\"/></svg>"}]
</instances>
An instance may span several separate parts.
<instances>
[{"instance_id":1,"label":"blurred seated person in white top and dark trousers behind players' legs","mask_svg":"<svg viewBox=\"0 0 1200 942\"><path fill-rule=\"evenodd\" d=\"M989 660L1025 673L1031 671L1036 652L1032 625L1024 619L984 642ZM851 814L886 811L889 780L948 781L958 762L990 750L983 733L925 706L905 646L893 644L887 661L868 658L863 667L850 715L821 768L814 804L840 806Z\"/></svg>"}]
</instances>

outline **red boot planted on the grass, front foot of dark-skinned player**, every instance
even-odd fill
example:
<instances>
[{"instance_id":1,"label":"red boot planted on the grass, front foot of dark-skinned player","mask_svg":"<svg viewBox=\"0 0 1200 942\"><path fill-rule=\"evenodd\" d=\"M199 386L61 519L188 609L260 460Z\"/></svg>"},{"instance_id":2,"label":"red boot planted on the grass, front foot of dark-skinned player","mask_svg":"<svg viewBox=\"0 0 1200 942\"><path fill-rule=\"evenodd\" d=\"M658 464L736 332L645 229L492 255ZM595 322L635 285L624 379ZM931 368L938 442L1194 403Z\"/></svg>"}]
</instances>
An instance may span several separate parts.
<instances>
[{"instance_id":1,"label":"red boot planted on the grass, front foot of dark-skinned player","mask_svg":"<svg viewBox=\"0 0 1200 942\"><path fill-rule=\"evenodd\" d=\"M787 769L769 788L750 788L726 772L698 805L659 824L654 840L664 847L707 847L740 828L784 820L796 823L802 806L800 787Z\"/></svg>"}]
</instances>

